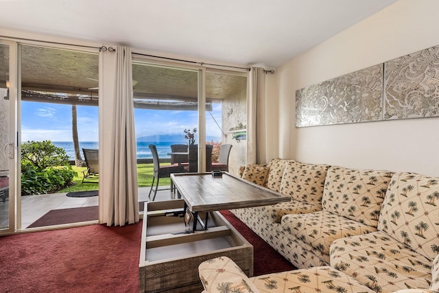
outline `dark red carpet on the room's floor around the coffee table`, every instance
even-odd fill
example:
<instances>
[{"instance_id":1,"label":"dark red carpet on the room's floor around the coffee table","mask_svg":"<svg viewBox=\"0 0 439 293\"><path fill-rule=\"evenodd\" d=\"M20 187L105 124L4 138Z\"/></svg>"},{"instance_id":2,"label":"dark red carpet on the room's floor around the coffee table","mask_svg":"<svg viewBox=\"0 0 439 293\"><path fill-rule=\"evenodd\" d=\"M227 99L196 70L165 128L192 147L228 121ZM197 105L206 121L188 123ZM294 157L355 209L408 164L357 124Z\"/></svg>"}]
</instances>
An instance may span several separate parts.
<instances>
[{"instance_id":1,"label":"dark red carpet on the room's floor around the coffee table","mask_svg":"<svg viewBox=\"0 0 439 293\"><path fill-rule=\"evenodd\" d=\"M254 246L254 275L293 266L230 212ZM0 292L139 292L142 222L0 237Z\"/></svg>"}]
</instances>

